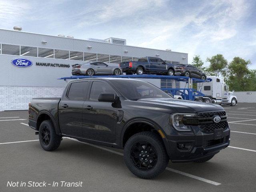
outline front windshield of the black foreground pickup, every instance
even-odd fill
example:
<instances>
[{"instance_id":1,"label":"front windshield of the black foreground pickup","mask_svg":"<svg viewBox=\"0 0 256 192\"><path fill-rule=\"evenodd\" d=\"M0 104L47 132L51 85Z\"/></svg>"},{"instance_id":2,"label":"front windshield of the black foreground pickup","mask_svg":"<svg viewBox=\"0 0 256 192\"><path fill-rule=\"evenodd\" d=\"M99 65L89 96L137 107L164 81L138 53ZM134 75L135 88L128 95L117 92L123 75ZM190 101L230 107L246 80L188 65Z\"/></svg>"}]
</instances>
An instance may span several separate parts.
<instances>
[{"instance_id":1,"label":"front windshield of the black foreground pickup","mask_svg":"<svg viewBox=\"0 0 256 192\"><path fill-rule=\"evenodd\" d=\"M172 98L172 96L148 82L136 80L110 80L110 82L129 100Z\"/></svg>"}]
</instances>

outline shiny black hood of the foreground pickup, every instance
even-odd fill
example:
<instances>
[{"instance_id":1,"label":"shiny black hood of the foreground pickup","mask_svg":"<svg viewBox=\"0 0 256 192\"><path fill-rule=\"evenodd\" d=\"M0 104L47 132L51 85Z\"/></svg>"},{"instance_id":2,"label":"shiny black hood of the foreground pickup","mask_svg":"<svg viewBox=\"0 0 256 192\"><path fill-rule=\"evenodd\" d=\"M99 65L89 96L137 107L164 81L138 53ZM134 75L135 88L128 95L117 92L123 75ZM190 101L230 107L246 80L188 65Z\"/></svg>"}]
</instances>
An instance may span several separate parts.
<instances>
[{"instance_id":1,"label":"shiny black hood of the foreground pickup","mask_svg":"<svg viewBox=\"0 0 256 192\"><path fill-rule=\"evenodd\" d=\"M162 106L170 107L179 113L196 113L202 111L216 111L224 110L224 108L218 104L206 104L202 102L180 100L180 99L169 99L169 98L149 98L139 99L138 102L151 103Z\"/></svg>"}]
</instances>

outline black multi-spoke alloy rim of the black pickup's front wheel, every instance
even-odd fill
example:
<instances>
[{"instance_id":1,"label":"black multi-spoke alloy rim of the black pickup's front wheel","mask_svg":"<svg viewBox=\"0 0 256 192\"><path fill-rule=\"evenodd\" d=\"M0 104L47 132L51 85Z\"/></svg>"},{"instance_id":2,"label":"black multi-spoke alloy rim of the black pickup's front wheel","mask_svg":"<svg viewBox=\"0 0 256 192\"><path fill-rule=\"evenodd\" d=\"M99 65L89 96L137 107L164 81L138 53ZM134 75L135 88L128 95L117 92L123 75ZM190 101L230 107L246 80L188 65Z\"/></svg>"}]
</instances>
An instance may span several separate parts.
<instances>
[{"instance_id":1,"label":"black multi-spoke alloy rim of the black pickup's front wheel","mask_svg":"<svg viewBox=\"0 0 256 192\"><path fill-rule=\"evenodd\" d=\"M156 149L148 142L137 142L132 146L130 158L139 170L150 170L157 162Z\"/></svg>"}]
</instances>

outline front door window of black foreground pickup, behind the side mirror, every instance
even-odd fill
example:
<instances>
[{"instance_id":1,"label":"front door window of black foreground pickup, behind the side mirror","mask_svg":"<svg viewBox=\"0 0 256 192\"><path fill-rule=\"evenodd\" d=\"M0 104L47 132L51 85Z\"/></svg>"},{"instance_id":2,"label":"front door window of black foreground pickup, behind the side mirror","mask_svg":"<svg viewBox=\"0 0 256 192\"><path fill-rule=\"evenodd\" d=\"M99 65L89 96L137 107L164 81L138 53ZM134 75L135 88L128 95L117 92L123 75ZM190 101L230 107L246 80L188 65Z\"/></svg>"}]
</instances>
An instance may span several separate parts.
<instances>
[{"instance_id":1,"label":"front door window of black foreground pickup, behind the side mirror","mask_svg":"<svg viewBox=\"0 0 256 192\"><path fill-rule=\"evenodd\" d=\"M90 92L90 101L98 101L99 95L101 93L112 93L115 94L115 91L113 88L105 83L105 82L99 82L99 81L94 81L92 83L92 88Z\"/></svg>"}]
</instances>

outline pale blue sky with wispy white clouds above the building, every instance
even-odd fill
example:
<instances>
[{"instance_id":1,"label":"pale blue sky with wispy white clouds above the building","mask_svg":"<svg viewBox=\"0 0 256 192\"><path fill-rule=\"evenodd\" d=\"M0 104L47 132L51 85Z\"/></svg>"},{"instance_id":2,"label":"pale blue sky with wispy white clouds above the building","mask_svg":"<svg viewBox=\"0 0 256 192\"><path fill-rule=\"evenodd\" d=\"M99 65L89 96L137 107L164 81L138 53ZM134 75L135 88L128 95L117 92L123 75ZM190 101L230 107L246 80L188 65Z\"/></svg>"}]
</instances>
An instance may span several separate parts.
<instances>
[{"instance_id":1,"label":"pale blue sky with wispy white clouds above the building","mask_svg":"<svg viewBox=\"0 0 256 192\"><path fill-rule=\"evenodd\" d=\"M0 0L0 28L250 60L256 69L256 0Z\"/></svg>"}]
</instances>

